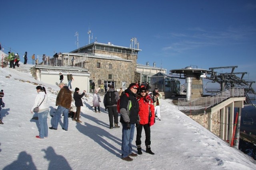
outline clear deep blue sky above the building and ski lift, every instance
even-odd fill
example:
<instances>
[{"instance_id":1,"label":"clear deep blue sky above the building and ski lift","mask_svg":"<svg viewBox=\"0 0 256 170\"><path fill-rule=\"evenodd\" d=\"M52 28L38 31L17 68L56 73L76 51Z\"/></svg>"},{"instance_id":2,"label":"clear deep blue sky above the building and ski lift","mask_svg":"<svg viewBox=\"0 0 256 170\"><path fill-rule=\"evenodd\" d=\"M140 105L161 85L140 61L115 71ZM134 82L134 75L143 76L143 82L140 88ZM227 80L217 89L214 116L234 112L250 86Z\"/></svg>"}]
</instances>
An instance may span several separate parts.
<instances>
[{"instance_id":1,"label":"clear deep blue sky above the building and ski lift","mask_svg":"<svg viewBox=\"0 0 256 170\"><path fill-rule=\"evenodd\" d=\"M99 43L130 47L138 63L169 70L238 66L256 80L255 0L9 0L1 2L0 42L6 53L49 56ZM231 72L229 69L220 72Z\"/></svg>"}]
</instances>

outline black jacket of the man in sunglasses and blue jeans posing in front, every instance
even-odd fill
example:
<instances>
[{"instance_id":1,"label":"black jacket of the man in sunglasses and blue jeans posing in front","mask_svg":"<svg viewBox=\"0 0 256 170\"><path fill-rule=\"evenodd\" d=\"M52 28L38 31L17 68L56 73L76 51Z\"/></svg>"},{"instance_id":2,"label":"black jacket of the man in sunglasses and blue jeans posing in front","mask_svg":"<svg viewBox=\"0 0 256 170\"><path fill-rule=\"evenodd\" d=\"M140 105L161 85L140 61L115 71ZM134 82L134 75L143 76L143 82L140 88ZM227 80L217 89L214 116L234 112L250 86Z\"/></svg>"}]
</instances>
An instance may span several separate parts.
<instances>
[{"instance_id":1,"label":"black jacket of the man in sunglasses and blue jeans posing in front","mask_svg":"<svg viewBox=\"0 0 256 170\"><path fill-rule=\"evenodd\" d=\"M121 123L127 123L130 122L130 124L135 124L138 117L139 112L139 104L138 100L136 99L136 94L133 94L130 89L124 90L124 93L129 94L129 98L124 94L122 95L120 99L120 122ZM127 105L129 100L132 102L132 107L130 108L130 115L128 116L127 111Z\"/></svg>"}]
</instances>

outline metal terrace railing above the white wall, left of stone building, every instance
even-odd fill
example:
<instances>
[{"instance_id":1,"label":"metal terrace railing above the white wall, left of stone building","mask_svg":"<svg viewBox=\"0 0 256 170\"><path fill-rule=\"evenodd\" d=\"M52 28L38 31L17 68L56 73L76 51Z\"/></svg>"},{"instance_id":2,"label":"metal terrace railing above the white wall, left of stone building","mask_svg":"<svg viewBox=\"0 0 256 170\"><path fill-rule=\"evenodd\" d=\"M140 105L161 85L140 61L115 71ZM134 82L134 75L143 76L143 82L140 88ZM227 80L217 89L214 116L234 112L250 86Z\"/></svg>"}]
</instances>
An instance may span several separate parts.
<instances>
[{"instance_id":1,"label":"metal terrace railing above the white wall, left of stone building","mask_svg":"<svg viewBox=\"0 0 256 170\"><path fill-rule=\"evenodd\" d=\"M87 56L82 56L74 59L71 56L55 58L38 55L36 59L36 65L45 66L73 66L85 68L86 62Z\"/></svg>"}]
</instances>

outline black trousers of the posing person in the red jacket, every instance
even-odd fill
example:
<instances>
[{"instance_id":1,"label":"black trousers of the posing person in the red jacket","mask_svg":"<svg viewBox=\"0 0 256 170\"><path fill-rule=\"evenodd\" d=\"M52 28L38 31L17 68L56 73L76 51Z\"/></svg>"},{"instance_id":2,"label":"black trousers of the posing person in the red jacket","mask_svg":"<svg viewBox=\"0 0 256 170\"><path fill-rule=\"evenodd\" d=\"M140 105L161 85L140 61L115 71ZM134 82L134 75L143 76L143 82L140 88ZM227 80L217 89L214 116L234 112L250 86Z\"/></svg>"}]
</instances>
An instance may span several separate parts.
<instances>
[{"instance_id":1,"label":"black trousers of the posing person in the red jacket","mask_svg":"<svg viewBox=\"0 0 256 170\"><path fill-rule=\"evenodd\" d=\"M137 135L136 135L136 145L141 145L141 133L142 133L142 127L144 128L146 139L145 139L145 145L148 146L151 144L150 141L150 125L149 123L146 125L140 124L139 127L137 127Z\"/></svg>"}]
</instances>

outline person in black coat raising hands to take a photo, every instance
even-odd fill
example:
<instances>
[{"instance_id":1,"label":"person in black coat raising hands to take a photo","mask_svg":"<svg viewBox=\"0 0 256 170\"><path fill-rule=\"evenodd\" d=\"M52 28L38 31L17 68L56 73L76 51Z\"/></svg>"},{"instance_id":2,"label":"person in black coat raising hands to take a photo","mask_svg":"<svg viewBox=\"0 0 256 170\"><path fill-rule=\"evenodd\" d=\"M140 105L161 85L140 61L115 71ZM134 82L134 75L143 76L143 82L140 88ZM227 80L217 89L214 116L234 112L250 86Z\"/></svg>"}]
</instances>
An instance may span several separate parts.
<instances>
[{"instance_id":1,"label":"person in black coat raising hands to take a photo","mask_svg":"<svg viewBox=\"0 0 256 170\"><path fill-rule=\"evenodd\" d=\"M75 106L76 106L76 113L74 114L73 121L76 121L78 123L82 123L82 121L79 120L80 112L81 112L81 106L83 106L83 102L82 102L81 98L84 96L84 93L86 91L84 90L84 92L82 94L78 94L78 92L79 92L79 88L76 87L74 95L73 95L73 98L75 100Z\"/></svg>"}]
</instances>

